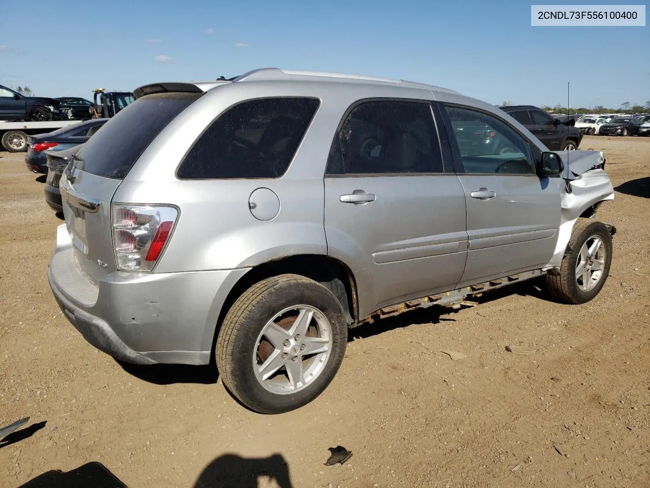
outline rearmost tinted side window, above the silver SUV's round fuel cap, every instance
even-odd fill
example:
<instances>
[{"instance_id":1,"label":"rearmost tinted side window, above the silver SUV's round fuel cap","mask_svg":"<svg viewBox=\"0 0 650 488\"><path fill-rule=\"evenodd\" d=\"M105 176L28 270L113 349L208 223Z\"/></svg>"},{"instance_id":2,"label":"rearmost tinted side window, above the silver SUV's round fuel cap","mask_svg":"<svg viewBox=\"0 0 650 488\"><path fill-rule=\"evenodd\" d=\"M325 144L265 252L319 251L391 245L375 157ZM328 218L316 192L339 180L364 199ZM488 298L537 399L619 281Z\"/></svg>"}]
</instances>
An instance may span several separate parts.
<instances>
[{"instance_id":1,"label":"rearmost tinted side window, above the silver SUV's round fuel cap","mask_svg":"<svg viewBox=\"0 0 650 488\"><path fill-rule=\"evenodd\" d=\"M316 98L259 98L230 107L194 143L178 178L279 178L319 103Z\"/></svg>"}]
</instances>

